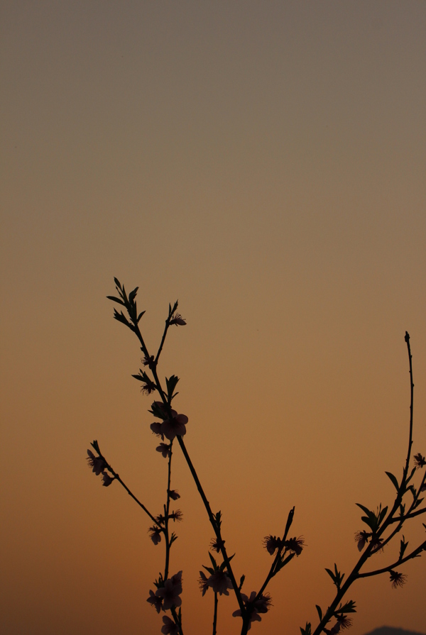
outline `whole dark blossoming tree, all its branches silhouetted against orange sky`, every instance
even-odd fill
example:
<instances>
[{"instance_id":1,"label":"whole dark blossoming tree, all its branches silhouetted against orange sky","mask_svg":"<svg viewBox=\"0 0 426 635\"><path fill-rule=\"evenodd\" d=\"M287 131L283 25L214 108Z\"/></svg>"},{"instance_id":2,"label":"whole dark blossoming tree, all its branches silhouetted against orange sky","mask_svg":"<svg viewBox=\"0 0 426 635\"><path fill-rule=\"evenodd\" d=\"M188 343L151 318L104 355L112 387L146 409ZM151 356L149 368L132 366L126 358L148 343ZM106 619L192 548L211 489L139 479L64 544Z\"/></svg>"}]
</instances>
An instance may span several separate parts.
<instances>
[{"instance_id":1,"label":"whole dark blossoming tree, all its branches silhouetted against orange sky","mask_svg":"<svg viewBox=\"0 0 426 635\"><path fill-rule=\"evenodd\" d=\"M295 508L293 507L293 509L290 509L290 512L288 513L283 537L280 538L279 536L269 535L264 539L263 544L266 550L271 556L274 556L273 563L268 570L268 574L266 575L260 590L257 593L256 591L252 591L250 595L245 595L241 592L245 576L242 575L239 584L237 584L231 566L231 560L234 558L234 555L228 556L225 548L225 541L222 538L222 514L221 512L217 512L215 514L212 512L212 508L210 507L209 501L200 482L200 478L197 475L197 471L195 470L185 446L185 441L183 440L183 436L185 436L187 431L186 424L188 422L188 418L185 414L178 414L178 412L172 407L173 399L178 394L178 392L175 392L175 388L179 382L179 377L175 375L165 377L165 387L163 387L158 377L158 361L170 326L185 326L186 324L185 319L177 313L178 301L173 304L173 307L169 304L168 316L165 320L160 346L158 347L155 356L150 355L143 339L141 329L139 328L139 322L145 311L138 313L136 307L136 294L138 287L133 289L133 291L131 291L128 295L124 285L121 285L119 280L116 278L114 278L114 281L116 283L118 297L108 297L113 302L116 302L121 305L121 307L124 307L127 311L126 316L122 310L117 311L117 309L114 309L114 319L127 326L132 333L135 333L143 353L143 367L146 367L146 370L141 368L138 374L133 375L133 377L142 383L141 390L144 394L149 395L153 392L158 393L157 399L151 404L149 412L151 412L151 414L159 420L154 421L154 423L151 424L153 434L161 438L161 443L155 449L163 455L163 458L168 458L167 498L165 504L163 505L164 515L160 514L159 516L154 517L153 514L151 514L151 512L149 512L148 509L136 498L136 496L133 495L131 490L129 490L129 487L124 484L119 475L113 470L113 468L111 468L111 465L107 463L107 460L104 458L99 449L97 441L93 441L92 443L92 447L97 452L97 455L94 455L91 450L88 450L87 453L89 458L87 460L93 472L96 473L96 475L102 475L102 481L105 487L111 485L114 480L118 480L126 492L128 492L141 509L146 512L151 521L153 521L153 526L150 527L149 532L151 540L155 545L161 541L161 535L164 534L164 576L161 575L161 573L159 574L158 580L155 580L154 582L156 590L155 592L150 590L150 597L147 601L155 608L158 614L161 611L170 611L171 617L168 615L163 616L163 626L161 628L163 635L183 635L181 609L182 600L180 598L180 594L182 593L182 571L175 573L169 578L170 548L177 538L174 532L171 532L170 534L170 520L179 521L182 519L182 512L180 512L179 509L170 512L170 500L180 498L178 492L171 489L173 441L175 438L178 439L180 449L185 457L188 468L190 469L190 473L214 531L215 538L212 540L211 548L213 551L217 551L217 553L221 553L222 555L222 563L218 564L212 554L209 553L212 567L203 565L203 568L209 573L209 578L200 571L199 579L200 590L202 591L203 596L209 588L212 588L214 592L213 635L217 635L218 595L229 595L229 589L234 590L236 600L239 604L239 608L234 611L233 615L234 617L241 617L241 635L246 635L249 629L251 629L253 622L261 622L261 614L268 612L271 607L271 596L265 592L268 583L275 575L277 575L277 573L279 573L281 569L285 567L285 565L288 565L295 556L300 556L302 549L305 547L305 540L302 536L299 536L298 538L288 537L290 527L293 523ZM362 568L364 567L366 561L368 561L368 558L371 558L371 556L374 556L376 553L383 551L383 548L388 545L395 535L398 534L400 529L402 529L405 521L420 516L420 514L424 514L426 512L426 507L419 509L420 504L422 503L420 494L421 492L426 491L426 470L425 474L422 476L419 487L415 489L413 485L413 478L416 471L418 469L425 468L426 466L426 459L422 454L417 453L417 455L413 457L414 466L410 470L412 458L411 453L413 449L414 384L410 336L407 332L405 332L405 343L408 348L410 367L410 425L408 451L405 459L405 465L403 466L401 481L398 482L398 479L393 474L386 472L386 475L388 475L396 490L393 505L391 509L388 510L388 506L383 507L382 509L380 504L377 507L376 512L373 512L367 507L364 507L364 505L357 503L358 507L360 507L364 512L364 516L361 517L361 520L368 528L356 533L355 539L358 544L358 549L361 552L359 559L346 579L345 574L341 573L337 568L337 564L334 564L334 570L326 569L336 587L336 595L324 614L321 607L317 606L319 617L319 624L317 625L317 628L312 633L311 624L307 623L305 629L300 629L302 635L320 635L322 632L326 635L337 635L341 630L349 628L352 620L348 617L348 614L356 612L356 605L353 600L349 600L344 604L342 604L342 601L353 582L360 578L368 578L373 575L380 575L381 573L389 573L393 588L400 587L405 583L406 575L396 571L395 567L399 567L409 560L421 556L422 551L426 551L425 541L421 543L420 546L417 546L417 548L413 551L406 554L408 542L405 542L405 538L403 536L403 539L400 541L400 553L398 560L384 568L362 572ZM168 443L165 442L165 438ZM403 503L403 500L408 492L413 495L413 500L407 507L406 504ZM424 526L426 529L426 525ZM328 624L332 619L335 619L336 622L331 628L329 628Z\"/></svg>"}]
</instances>

